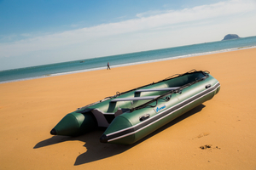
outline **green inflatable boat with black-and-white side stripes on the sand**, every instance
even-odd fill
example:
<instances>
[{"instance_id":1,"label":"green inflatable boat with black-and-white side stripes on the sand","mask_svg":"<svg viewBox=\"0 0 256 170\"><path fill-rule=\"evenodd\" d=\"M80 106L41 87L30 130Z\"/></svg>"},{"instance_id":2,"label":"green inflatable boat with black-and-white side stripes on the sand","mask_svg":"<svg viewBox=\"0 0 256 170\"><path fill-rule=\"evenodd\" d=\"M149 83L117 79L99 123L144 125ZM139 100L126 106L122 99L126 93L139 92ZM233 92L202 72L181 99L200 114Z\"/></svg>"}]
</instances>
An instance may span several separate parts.
<instances>
[{"instance_id":1,"label":"green inflatable boat with black-and-white side stripes on the sand","mask_svg":"<svg viewBox=\"0 0 256 170\"><path fill-rule=\"evenodd\" d=\"M208 71L189 71L81 107L64 116L50 133L77 136L106 127L102 143L133 144L212 99L219 89Z\"/></svg>"}]
</instances>

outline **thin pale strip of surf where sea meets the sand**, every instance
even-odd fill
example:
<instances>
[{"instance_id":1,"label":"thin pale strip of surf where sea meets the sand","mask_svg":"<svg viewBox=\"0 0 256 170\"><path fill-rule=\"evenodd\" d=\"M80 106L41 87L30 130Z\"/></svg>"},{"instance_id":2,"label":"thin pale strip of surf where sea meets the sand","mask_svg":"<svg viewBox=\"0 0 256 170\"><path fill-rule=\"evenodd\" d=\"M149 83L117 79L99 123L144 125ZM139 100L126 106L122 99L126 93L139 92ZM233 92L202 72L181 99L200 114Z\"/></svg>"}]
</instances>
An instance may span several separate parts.
<instances>
[{"instance_id":1,"label":"thin pale strip of surf where sea meets the sand","mask_svg":"<svg viewBox=\"0 0 256 170\"><path fill-rule=\"evenodd\" d=\"M166 61L166 60L172 60L172 59L183 59L183 58L197 57L197 56L208 55L208 54L226 53L226 52L243 50L243 49L248 49L248 48L256 48L256 46L228 48L228 49L204 52L204 53L199 53L199 54L185 54L185 55L181 55L181 56L164 58L164 59L153 59L153 60L140 61L140 62L135 62L135 63L112 65L111 68L118 68L118 67L129 66L129 65L142 65L142 64L146 64L146 63L154 63L154 62L160 62L160 61ZM15 79L15 80L10 80L10 81L3 81L3 82L0 82L0 84L9 83L9 82L21 82L21 81L27 81L27 80L33 80L33 79L45 78L45 77L57 77L57 76L62 76L62 75L76 74L76 73L82 73L82 72L88 72L88 71L100 71L100 70L105 70L105 69L106 69L106 66L93 68L93 69L79 70L79 71L67 71L67 72L61 72L61 73L53 73L53 74L43 75L43 76L38 76L38 77L28 77L28 78L21 78L21 79Z\"/></svg>"}]
</instances>

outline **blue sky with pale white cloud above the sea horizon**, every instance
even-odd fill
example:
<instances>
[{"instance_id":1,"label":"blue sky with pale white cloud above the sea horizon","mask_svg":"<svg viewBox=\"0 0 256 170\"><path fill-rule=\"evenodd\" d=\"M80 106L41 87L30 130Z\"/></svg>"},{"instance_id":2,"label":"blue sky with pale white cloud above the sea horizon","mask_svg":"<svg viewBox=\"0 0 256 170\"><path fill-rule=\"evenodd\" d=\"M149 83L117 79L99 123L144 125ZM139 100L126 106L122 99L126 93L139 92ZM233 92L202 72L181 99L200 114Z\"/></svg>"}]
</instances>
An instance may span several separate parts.
<instances>
[{"instance_id":1,"label":"blue sky with pale white cloud above the sea horizon","mask_svg":"<svg viewBox=\"0 0 256 170\"><path fill-rule=\"evenodd\" d=\"M256 0L0 0L0 71L256 36Z\"/></svg>"}]
</instances>

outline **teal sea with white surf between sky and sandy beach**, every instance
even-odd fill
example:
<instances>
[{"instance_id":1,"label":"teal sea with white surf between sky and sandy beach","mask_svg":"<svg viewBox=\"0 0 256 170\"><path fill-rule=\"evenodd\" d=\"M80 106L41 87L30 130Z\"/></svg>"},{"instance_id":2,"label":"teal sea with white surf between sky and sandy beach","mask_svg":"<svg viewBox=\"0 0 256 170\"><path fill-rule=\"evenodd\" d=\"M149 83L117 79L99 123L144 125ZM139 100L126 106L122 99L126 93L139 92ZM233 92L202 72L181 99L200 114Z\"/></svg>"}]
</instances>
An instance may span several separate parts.
<instances>
[{"instance_id":1,"label":"teal sea with white surf between sky and sandy beach","mask_svg":"<svg viewBox=\"0 0 256 170\"><path fill-rule=\"evenodd\" d=\"M161 48L131 54L119 54L93 59L79 59L50 65L38 65L26 68L0 71L0 83L23 81L27 79L53 77L83 71L95 71L110 67L137 65L166 59L179 59L204 54L215 54L241 48L256 48L256 37L205 42L174 48ZM242 56L241 56L242 57Z\"/></svg>"}]
</instances>

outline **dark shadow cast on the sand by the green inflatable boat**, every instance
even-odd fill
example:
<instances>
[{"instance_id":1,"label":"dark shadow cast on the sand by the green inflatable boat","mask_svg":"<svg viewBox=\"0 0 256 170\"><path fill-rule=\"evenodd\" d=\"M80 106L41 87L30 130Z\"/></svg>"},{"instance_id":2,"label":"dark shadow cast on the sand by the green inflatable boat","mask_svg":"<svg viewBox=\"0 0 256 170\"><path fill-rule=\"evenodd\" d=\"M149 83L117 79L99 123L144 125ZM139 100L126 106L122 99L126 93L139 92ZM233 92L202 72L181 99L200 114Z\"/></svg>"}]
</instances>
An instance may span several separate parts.
<instances>
[{"instance_id":1,"label":"dark shadow cast on the sand by the green inflatable boat","mask_svg":"<svg viewBox=\"0 0 256 170\"><path fill-rule=\"evenodd\" d=\"M39 142L38 144L36 144L34 146L34 149L38 149L51 144L59 144L61 142L79 140L85 143L84 147L86 147L87 151L77 157L76 161L74 162L74 166L81 165L84 163L89 163L91 161L98 161L104 158L108 158L110 156L118 155L120 153L125 152L126 150L130 150L132 147L136 146L137 144L140 144L143 141L150 139L155 134L162 132L168 127L172 127L172 125L176 124L177 122L181 122L184 119L188 118L189 116L192 116L195 113L200 112L204 107L205 105L198 105L194 109L183 114L183 116L177 117L172 122L169 122L163 127L160 127L159 129L155 130L154 133L150 133L147 137L131 145L102 144L100 143L99 138L104 131L102 129L98 129L96 131L86 133L79 137L53 136L50 139L45 139Z\"/></svg>"}]
</instances>

